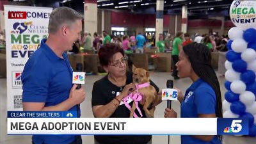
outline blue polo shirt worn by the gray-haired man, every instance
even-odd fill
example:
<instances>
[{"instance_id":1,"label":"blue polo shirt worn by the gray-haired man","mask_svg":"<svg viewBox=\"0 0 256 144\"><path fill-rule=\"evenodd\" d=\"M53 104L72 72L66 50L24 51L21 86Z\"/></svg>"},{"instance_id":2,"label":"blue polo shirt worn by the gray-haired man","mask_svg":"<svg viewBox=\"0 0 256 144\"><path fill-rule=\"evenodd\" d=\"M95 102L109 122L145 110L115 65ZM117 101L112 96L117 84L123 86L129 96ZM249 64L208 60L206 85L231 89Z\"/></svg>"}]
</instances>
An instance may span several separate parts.
<instances>
[{"instance_id":1,"label":"blue polo shirt worn by the gray-haired man","mask_svg":"<svg viewBox=\"0 0 256 144\"><path fill-rule=\"evenodd\" d=\"M45 106L56 106L69 97L72 88L72 68L67 55L58 57L41 41L40 48L27 61L22 72L23 102L44 102ZM68 111L77 111L74 106ZM80 116L80 109L79 116ZM75 140L71 135L33 135L35 144L68 144Z\"/></svg>"}]
</instances>

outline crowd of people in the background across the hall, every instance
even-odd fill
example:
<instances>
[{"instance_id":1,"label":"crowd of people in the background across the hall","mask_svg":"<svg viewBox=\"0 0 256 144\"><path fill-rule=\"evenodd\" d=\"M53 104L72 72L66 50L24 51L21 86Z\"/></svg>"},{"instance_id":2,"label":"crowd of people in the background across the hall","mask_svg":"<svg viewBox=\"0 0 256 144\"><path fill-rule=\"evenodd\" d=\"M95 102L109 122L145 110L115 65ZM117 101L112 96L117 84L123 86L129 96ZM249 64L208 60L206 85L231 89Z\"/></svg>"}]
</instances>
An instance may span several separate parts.
<instances>
[{"instance_id":1,"label":"crowd of people in the background across the hall","mask_svg":"<svg viewBox=\"0 0 256 144\"><path fill-rule=\"evenodd\" d=\"M177 39L177 36L179 39ZM88 33L88 31L85 31L80 42L75 42L73 49L70 52L78 53L80 51L90 51L97 53L102 45L116 44L120 48L124 49L125 52L129 53L143 53L146 48L156 49L155 52L174 51L175 53L175 49L177 49L177 40L182 47L192 42L197 42L207 45L212 52L227 51L226 45L228 42L228 36L219 36L217 33L212 33L212 35L199 35L198 33L195 33L195 35L189 35L189 33L177 31L175 35L172 35L171 33L166 33L164 35L161 33L159 34L159 39L156 40L154 35L149 35L148 33L145 33L145 35L138 33L138 35L115 36L109 35L109 33L104 30L102 31L102 35L96 32L93 33L93 37Z\"/></svg>"}]
</instances>

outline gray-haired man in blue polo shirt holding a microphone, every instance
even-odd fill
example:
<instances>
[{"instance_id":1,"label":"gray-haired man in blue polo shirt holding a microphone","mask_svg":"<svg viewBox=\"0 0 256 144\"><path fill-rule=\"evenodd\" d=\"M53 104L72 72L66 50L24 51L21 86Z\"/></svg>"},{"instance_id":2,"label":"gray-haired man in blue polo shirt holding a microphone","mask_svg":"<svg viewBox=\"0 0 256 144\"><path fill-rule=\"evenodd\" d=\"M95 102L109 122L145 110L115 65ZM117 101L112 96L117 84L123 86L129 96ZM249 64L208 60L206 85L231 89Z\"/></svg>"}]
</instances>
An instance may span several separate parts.
<instances>
[{"instance_id":1,"label":"gray-haired man in blue polo shirt holding a microphone","mask_svg":"<svg viewBox=\"0 0 256 144\"><path fill-rule=\"evenodd\" d=\"M49 20L49 37L29 58L22 72L24 111L78 111L83 88L72 84L72 68L65 51L81 39L83 16L67 7L56 8ZM35 135L33 144L81 144L81 136Z\"/></svg>"}]
</instances>

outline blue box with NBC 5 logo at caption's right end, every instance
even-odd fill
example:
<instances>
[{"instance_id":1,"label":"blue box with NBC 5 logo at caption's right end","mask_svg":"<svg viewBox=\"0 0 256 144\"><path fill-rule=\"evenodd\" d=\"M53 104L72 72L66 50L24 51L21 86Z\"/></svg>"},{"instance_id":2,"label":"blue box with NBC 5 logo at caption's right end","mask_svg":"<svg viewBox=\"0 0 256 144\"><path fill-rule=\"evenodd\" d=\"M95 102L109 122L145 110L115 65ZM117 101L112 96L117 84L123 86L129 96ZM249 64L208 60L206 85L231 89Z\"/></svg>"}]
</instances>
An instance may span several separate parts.
<instances>
[{"instance_id":1,"label":"blue box with NBC 5 logo at caption's right end","mask_svg":"<svg viewBox=\"0 0 256 144\"><path fill-rule=\"evenodd\" d=\"M248 118L218 118L217 134L218 135L248 135L249 120Z\"/></svg>"}]
</instances>

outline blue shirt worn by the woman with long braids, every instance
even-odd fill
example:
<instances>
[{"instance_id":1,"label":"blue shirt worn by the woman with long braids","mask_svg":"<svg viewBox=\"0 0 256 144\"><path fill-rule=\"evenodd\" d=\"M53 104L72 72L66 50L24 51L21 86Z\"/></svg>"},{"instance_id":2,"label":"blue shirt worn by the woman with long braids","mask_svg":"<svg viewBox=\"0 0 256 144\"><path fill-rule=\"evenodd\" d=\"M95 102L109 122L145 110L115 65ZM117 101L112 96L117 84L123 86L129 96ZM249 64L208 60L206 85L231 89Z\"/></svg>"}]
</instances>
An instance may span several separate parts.
<instances>
[{"instance_id":1,"label":"blue shirt worn by the woman with long braids","mask_svg":"<svg viewBox=\"0 0 256 144\"><path fill-rule=\"evenodd\" d=\"M186 90L180 105L181 118L198 118L200 114L215 114L216 94L212 87L202 79L198 79ZM191 124L193 125L193 124ZM181 136L182 144L221 144L217 136L211 141L202 141L192 136Z\"/></svg>"}]
</instances>

